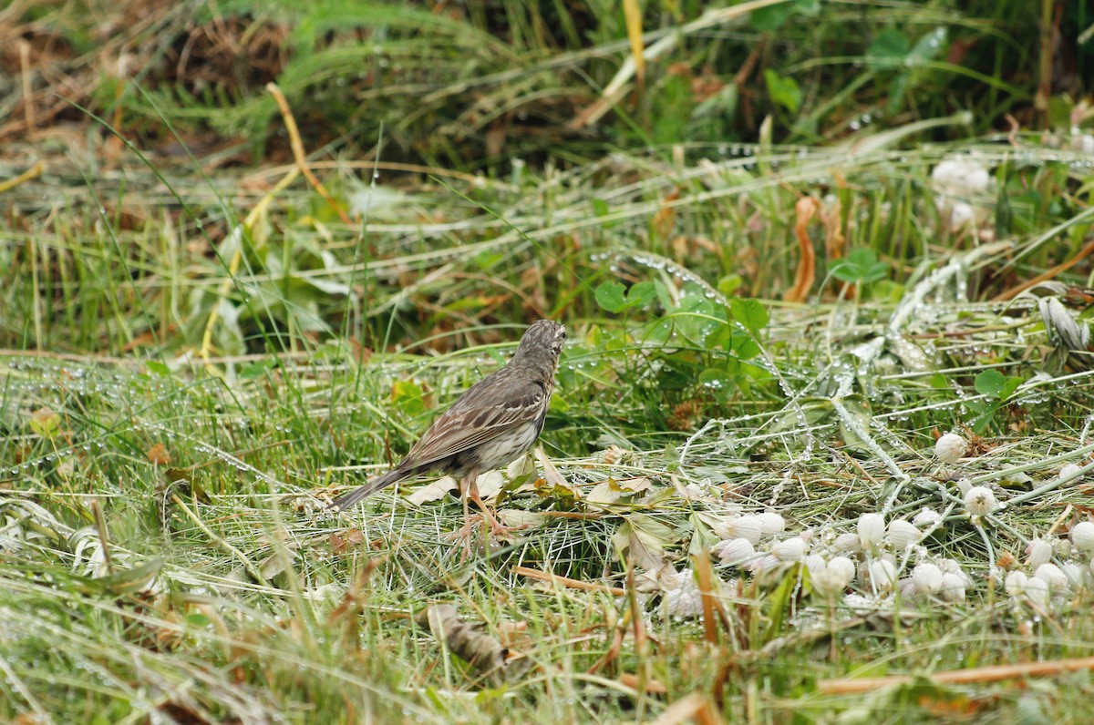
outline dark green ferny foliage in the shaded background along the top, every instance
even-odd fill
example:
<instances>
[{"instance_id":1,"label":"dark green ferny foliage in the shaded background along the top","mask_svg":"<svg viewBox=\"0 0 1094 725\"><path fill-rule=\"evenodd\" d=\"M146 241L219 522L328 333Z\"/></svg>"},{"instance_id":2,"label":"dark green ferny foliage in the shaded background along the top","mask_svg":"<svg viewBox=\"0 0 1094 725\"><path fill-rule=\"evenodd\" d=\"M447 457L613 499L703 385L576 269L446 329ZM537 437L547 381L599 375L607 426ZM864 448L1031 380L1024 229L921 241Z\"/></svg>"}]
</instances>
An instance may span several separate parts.
<instances>
[{"instance_id":1,"label":"dark green ferny foliage in the shaded background along the top","mask_svg":"<svg viewBox=\"0 0 1094 725\"><path fill-rule=\"evenodd\" d=\"M702 3L654 3L644 9L643 26L661 37L687 27L703 10ZM93 109L109 117L120 102L127 122L146 133L166 137L162 121L211 128L246 139L259 155L281 128L265 90L272 80L311 137L306 148L333 137L360 151L358 143L371 143L383 126L389 155L496 167L501 160L487 159L485 142L492 129L504 138L507 159L570 159L573 147L566 144L573 129L556 121L581 115L626 59L620 15L598 3L496 7L473 0L433 12L419 3L353 0L202 2L190 17L200 28L197 37L210 28L208 36L218 38L225 20L238 23L247 39L272 34L278 62L264 67L272 77L232 68L211 79L164 82L174 79L174 56L135 48L155 63L136 81L140 90L103 73ZM864 126L883 130L964 110L974 112L973 133L987 132L1015 104L1033 102L1037 73L1029 69L1038 58L1026 39L1036 37L1037 22L1022 0L973 2L963 14L930 4L868 4L853 20L838 4L791 0L719 32L685 30L675 48L648 63L637 104L616 98L607 115L581 126L582 154L753 140L772 107L780 109L777 140L837 138ZM1067 32L1090 24L1073 8L1061 23ZM91 30L73 27L72 35ZM190 24L171 24L159 42L182 45L195 32ZM775 51L763 54L756 72L736 78L749 68L752 49L764 44ZM221 62L212 45L210 62ZM1089 70L1091 62L1083 55L1079 65ZM742 104L742 93L769 103ZM1054 122L1068 125L1073 106L1066 96L1050 98Z\"/></svg>"}]
</instances>

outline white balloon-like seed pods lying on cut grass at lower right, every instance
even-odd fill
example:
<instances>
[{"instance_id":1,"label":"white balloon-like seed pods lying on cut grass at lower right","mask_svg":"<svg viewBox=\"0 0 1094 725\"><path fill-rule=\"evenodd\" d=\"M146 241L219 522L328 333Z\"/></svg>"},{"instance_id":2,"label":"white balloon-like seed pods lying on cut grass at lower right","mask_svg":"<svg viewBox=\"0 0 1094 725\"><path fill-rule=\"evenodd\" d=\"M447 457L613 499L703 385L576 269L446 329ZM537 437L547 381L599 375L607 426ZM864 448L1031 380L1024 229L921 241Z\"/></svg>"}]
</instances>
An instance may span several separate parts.
<instances>
[{"instance_id":1,"label":"white balloon-like seed pods lying on cut grass at lower right","mask_svg":"<svg viewBox=\"0 0 1094 725\"><path fill-rule=\"evenodd\" d=\"M968 443L957 433L946 433L935 442L934 456L944 466L959 465L968 453ZM1079 466L1068 465L1059 476L1070 478L1078 471ZM978 526L1005 505L997 498L998 489L971 486L965 479L957 481L957 489L958 511L964 507ZM923 546L924 536L936 529L942 517L932 507L889 519L868 512L846 527L790 536L782 516L775 512L735 515L715 526L721 540L711 552L722 564L754 575L802 564L808 576L807 592L851 608L876 606L893 595L908 601L959 603L973 589L973 578L957 560L932 554ZM1094 522L1076 523L1067 539L1034 538L1025 554L1017 564L1021 571L1011 571L1004 582L1016 601L1046 606L1090 587L1094 585Z\"/></svg>"}]
</instances>

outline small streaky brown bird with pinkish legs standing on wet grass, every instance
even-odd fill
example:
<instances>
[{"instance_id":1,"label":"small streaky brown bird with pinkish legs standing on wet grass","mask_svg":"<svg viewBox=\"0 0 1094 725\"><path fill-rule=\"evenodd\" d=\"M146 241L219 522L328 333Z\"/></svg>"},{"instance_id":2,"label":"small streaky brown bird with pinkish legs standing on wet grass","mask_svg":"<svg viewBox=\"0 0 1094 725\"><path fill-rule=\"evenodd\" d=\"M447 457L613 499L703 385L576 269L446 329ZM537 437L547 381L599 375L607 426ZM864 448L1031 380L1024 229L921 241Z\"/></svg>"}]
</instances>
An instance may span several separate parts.
<instances>
[{"instance_id":1,"label":"small streaky brown bird with pinkish legs standing on wet grass","mask_svg":"<svg viewBox=\"0 0 1094 725\"><path fill-rule=\"evenodd\" d=\"M533 323L509 363L459 396L395 468L339 496L330 507L346 511L405 478L444 471L459 481L464 536L470 531L468 499L482 510L494 534L508 533L482 503L475 480L524 455L539 437L565 341L563 325L550 319Z\"/></svg>"}]
</instances>

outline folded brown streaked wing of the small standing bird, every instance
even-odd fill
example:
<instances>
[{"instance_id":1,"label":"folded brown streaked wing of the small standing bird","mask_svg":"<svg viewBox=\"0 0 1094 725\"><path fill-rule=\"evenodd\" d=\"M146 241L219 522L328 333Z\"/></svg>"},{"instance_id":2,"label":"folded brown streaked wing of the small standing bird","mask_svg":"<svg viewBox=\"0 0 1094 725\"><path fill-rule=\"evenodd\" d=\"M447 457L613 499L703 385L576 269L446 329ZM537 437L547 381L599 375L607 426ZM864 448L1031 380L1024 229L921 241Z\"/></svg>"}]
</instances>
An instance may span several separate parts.
<instances>
[{"instance_id":1,"label":"folded brown streaked wing of the small standing bird","mask_svg":"<svg viewBox=\"0 0 1094 725\"><path fill-rule=\"evenodd\" d=\"M535 381L507 381L499 395L475 396L464 404L468 390L430 426L410 449L404 463L408 467L428 467L437 461L474 448L505 431L535 421L543 413L547 395Z\"/></svg>"}]
</instances>

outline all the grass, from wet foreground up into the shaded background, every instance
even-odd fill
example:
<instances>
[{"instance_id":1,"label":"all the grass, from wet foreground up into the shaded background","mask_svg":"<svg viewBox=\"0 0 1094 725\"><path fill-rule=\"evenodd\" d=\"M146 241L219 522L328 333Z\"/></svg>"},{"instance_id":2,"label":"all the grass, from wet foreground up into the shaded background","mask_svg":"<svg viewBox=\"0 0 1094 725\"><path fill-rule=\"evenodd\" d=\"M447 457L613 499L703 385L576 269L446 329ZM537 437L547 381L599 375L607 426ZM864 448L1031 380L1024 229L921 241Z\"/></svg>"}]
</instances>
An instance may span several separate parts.
<instances>
[{"instance_id":1,"label":"all the grass, from wet foreground up into the shaded background","mask_svg":"<svg viewBox=\"0 0 1094 725\"><path fill-rule=\"evenodd\" d=\"M693 114L695 86L653 69L647 95L593 136L551 124L505 147L527 163L501 164L485 141L437 129L468 121L465 103L572 102L562 90L603 87L618 67L604 58L627 47L618 19L591 24L592 3L557 25L501 5L500 27L482 3L430 26L470 24L470 60L418 54L422 37L392 25L395 70L421 78L387 110L417 107L414 122L358 110L356 127L338 115L350 94L309 90L329 79L307 69L361 62L369 44L347 35L275 73L303 84L286 90L305 148L324 143L317 108L364 130L310 160L350 224L274 165L276 149L238 168L224 163L237 149L203 168L163 153L171 129L190 143L224 119L269 128L254 104L275 106L249 86L177 105L183 83L133 84L116 107L85 98L144 135L141 155L98 125L11 147L5 163L49 164L3 191L0 227L0 720L1082 722L1090 667L1063 665L1094 648L1090 552L1069 542L1092 510L1094 187L1072 150L1084 127L1008 135L986 120L1035 115L1028 79L1005 72L1024 21L1005 3L970 13L950 32L999 43L966 48L966 71L928 54L907 77L877 56L916 46L882 33L870 5L869 42L839 38L853 50L810 43L851 22L842 8L815 27L791 14L695 31L688 62L719 77L747 55L733 33L763 36L755 62L789 94L768 106L779 142ZM293 30L327 27L339 8L232 22L259 45L276 27L299 54ZM908 27L945 22L894 8ZM53 25L38 27L80 39L66 25L78 14L39 10ZM778 22L790 25L763 25ZM142 51L166 57L187 23L158 14L127 37L154 36ZM789 77L804 89L795 110ZM970 124L938 84L956 96L981 77ZM875 78L907 90L863 126L896 103ZM703 141L711 124L726 132ZM986 183L943 195L953 159ZM975 224L947 222L958 203ZM795 296L803 234L815 269ZM1020 294L1038 276L1047 284ZM411 502L431 479L325 510L396 463L540 316L570 342L543 453L500 482L502 515L528 524L515 540L479 538L463 560L459 502ZM950 431L969 449L943 465L933 446ZM973 513L973 486L1005 507ZM755 553L723 560L721 542L765 513ZM922 538L900 548L894 529L849 548L872 513ZM837 556L857 571L831 587ZM1035 577L1046 557L1059 570ZM952 576L917 590L924 565ZM438 603L510 648L504 671L415 623ZM994 665L1019 671L997 679ZM911 679L870 679L898 675Z\"/></svg>"}]
</instances>

